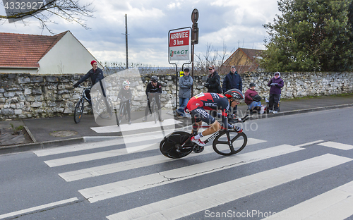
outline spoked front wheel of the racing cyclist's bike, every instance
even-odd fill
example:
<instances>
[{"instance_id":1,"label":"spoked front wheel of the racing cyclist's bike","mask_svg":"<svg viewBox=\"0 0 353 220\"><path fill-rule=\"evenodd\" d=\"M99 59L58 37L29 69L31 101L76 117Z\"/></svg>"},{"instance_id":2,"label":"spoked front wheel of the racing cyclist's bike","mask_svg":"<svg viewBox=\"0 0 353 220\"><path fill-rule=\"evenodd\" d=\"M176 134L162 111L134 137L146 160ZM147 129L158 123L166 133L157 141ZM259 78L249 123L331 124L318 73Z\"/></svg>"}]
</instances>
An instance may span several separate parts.
<instances>
[{"instance_id":1,"label":"spoked front wheel of the racing cyclist's bike","mask_svg":"<svg viewBox=\"0 0 353 220\"><path fill-rule=\"evenodd\" d=\"M237 133L235 130L222 131L220 135L213 140L213 150L217 154L232 155L241 152L246 146L248 138L244 133Z\"/></svg>"}]
</instances>

